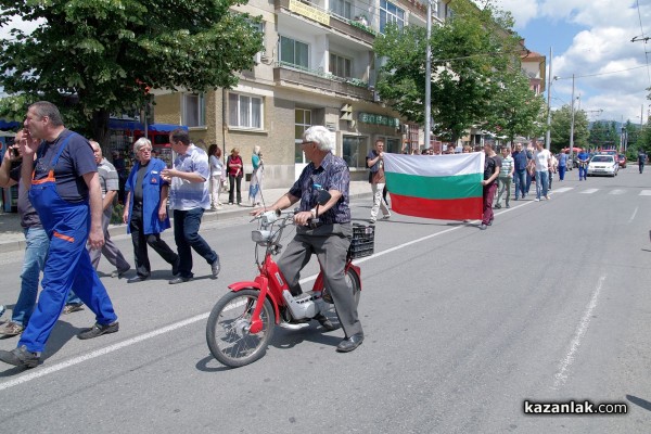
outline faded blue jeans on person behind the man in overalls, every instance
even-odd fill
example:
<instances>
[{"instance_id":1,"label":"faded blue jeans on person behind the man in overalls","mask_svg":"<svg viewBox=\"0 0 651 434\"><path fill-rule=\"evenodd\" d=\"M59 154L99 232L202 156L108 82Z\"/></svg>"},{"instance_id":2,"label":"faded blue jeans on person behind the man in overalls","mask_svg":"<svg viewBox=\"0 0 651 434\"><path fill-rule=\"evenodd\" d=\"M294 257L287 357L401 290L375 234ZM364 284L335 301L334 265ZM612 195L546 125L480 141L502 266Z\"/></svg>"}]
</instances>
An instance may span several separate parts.
<instances>
[{"instance_id":1,"label":"faded blue jeans on person behind the man in overalls","mask_svg":"<svg viewBox=\"0 0 651 434\"><path fill-rule=\"evenodd\" d=\"M25 229L25 259L21 271L21 294L14 306L11 320L23 327L29 322L29 317L36 306L38 280L46 265L50 239L43 228Z\"/></svg>"}]
</instances>

